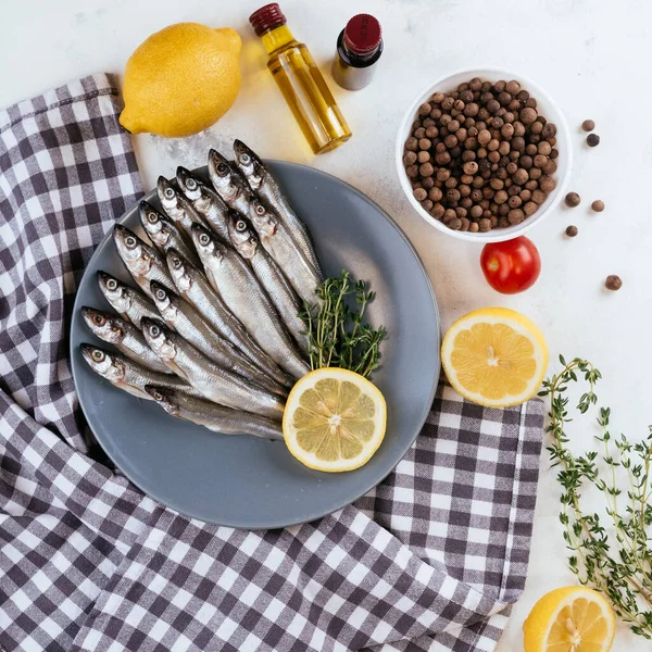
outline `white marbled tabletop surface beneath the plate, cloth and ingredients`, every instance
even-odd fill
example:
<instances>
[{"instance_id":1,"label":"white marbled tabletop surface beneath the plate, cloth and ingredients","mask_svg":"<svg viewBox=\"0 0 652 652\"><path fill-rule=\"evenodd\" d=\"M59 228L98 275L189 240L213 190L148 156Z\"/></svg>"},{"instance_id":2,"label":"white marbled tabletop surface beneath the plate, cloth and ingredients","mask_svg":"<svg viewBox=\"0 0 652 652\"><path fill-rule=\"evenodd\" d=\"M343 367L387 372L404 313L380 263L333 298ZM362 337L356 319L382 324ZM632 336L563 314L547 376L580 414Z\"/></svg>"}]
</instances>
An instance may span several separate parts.
<instances>
[{"instance_id":1,"label":"white marbled tabletop surface beneath the plate, cloth and ingredients","mask_svg":"<svg viewBox=\"0 0 652 652\"><path fill-rule=\"evenodd\" d=\"M369 195L404 228L432 277L443 327L465 312L507 305L541 326L551 353L584 355L603 372L600 396L613 408L614 430L647 431L652 377L644 373L652 347L650 183L652 129L648 102L652 4L645 0L364 0L327 3L284 0L296 36L305 41L337 96L354 137L313 158L267 71L262 47L247 24L262 0L58 0L5 2L2 7L0 105L36 95L88 73L121 73L129 53L152 32L197 21L235 27L243 37L243 85L236 105L208 133L185 142L138 136L136 147L147 188L177 164L203 164L211 146L242 136L261 154L314 165ZM333 84L328 62L346 21L360 11L378 16L386 52L373 86L359 92ZM570 189L579 208L560 208L532 233L543 272L522 296L502 297L485 283L478 246L457 242L426 225L401 195L393 146L400 117L428 80L460 68L500 66L544 87L561 105L575 142ZM189 71L191 74L191 71ZM601 145L584 145L579 125L592 118ZM602 199L606 210L591 214ZM568 224L579 228L565 239ZM623 289L602 289L619 274ZM557 365L559 366L559 365ZM554 367L554 365L553 365ZM579 447L591 444L590 419L575 426ZM546 591L573 584L556 521L559 489L547 457L535 521L526 590L498 650L522 649L521 626ZM650 650L651 643L619 626L616 650Z\"/></svg>"}]
</instances>

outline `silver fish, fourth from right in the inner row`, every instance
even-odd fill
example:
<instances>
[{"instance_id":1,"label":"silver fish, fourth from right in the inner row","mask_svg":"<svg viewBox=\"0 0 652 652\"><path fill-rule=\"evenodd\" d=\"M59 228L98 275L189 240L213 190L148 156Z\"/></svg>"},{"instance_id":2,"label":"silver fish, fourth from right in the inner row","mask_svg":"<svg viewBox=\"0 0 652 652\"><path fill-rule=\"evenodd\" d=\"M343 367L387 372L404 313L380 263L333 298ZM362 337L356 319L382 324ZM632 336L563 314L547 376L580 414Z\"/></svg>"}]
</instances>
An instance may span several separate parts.
<instances>
[{"instance_id":1,"label":"silver fish, fourth from right in the inner row","mask_svg":"<svg viewBox=\"0 0 652 652\"><path fill-rule=\"evenodd\" d=\"M276 383L291 387L292 379L258 346L215 293L202 272L174 250L167 252L167 268L179 294L198 310L218 335L231 342Z\"/></svg>"}]
</instances>

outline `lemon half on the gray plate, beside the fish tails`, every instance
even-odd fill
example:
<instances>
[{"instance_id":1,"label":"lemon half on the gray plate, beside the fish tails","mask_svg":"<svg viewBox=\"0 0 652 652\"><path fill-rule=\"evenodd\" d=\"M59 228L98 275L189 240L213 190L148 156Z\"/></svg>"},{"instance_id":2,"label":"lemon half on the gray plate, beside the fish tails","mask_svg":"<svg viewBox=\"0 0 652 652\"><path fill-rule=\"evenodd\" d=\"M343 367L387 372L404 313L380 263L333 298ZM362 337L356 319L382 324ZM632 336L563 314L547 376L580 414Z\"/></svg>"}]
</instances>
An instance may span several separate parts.
<instances>
[{"instance_id":1,"label":"lemon half on the gray plate, beside the fish tails","mask_svg":"<svg viewBox=\"0 0 652 652\"><path fill-rule=\"evenodd\" d=\"M380 390L359 374L325 367L290 391L283 434L290 453L310 468L359 468L385 437L387 406Z\"/></svg>"}]
</instances>

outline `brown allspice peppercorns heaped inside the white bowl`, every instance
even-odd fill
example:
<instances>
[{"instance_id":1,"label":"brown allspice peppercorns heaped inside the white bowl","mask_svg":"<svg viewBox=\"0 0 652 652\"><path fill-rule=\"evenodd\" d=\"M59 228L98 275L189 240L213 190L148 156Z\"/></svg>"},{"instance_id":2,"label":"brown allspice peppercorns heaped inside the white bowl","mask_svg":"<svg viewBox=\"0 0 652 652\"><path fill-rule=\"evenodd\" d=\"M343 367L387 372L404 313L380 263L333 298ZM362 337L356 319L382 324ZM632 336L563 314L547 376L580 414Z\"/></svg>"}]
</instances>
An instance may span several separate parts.
<instances>
[{"instance_id":1,"label":"brown allspice peppercorns heaped inside the white bowl","mask_svg":"<svg viewBox=\"0 0 652 652\"><path fill-rule=\"evenodd\" d=\"M474 77L419 106L403 163L435 220L486 233L521 224L554 189L555 136L518 82Z\"/></svg>"}]
</instances>

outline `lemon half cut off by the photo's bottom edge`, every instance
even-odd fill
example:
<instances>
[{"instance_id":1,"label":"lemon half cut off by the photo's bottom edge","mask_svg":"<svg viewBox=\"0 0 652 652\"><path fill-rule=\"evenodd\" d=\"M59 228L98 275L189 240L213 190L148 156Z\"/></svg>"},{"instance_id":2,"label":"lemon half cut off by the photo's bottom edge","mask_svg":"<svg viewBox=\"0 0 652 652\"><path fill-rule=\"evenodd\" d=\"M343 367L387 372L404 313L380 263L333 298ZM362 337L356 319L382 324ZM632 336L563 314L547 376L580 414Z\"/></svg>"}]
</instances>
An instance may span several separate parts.
<instances>
[{"instance_id":1,"label":"lemon half cut off by the photo's bottom edge","mask_svg":"<svg viewBox=\"0 0 652 652\"><path fill-rule=\"evenodd\" d=\"M607 652L616 623L606 600L587 587L546 593L523 624L525 652Z\"/></svg>"}]
</instances>

